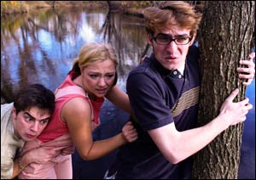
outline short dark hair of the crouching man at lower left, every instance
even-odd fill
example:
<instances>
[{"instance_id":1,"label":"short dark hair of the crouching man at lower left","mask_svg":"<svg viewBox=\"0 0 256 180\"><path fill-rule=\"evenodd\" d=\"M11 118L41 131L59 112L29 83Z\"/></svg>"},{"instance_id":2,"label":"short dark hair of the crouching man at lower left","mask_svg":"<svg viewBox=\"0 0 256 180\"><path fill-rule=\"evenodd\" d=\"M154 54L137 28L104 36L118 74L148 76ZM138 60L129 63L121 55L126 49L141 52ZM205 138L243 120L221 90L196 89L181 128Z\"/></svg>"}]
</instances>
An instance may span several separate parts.
<instances>
[{"instance_id":1,"label":"short dark hair of the crouching man at lower left","mask_svg":"<svg viewBox=\"0 0 256 180\"><path fill-rule=\"evenodd\" d=\"M14 106L16 114L21 110L30 110L32 107L48 110L49 114L52 114L55 110L55 94L42 84L28 85L17 93Z\"/></svg>"}]
</instances>

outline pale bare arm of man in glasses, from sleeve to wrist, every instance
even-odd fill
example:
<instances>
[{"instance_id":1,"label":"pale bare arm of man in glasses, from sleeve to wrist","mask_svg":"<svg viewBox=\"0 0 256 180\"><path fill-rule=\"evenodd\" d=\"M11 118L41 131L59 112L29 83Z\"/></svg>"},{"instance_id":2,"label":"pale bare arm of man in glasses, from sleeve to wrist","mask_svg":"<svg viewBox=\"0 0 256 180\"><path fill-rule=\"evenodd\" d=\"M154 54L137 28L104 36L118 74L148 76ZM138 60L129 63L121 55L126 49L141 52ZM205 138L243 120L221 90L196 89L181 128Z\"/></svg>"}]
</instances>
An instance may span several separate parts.
<instances>
[{"instance_id":1,"label":"pale bare arm of man in glasses, from sleeve to wrist","mask_svg":"<svg viewBox=\"0 0 256 180\"><path fill-rule=\"evenodd\" d=\"M203 149L227 127L225 121L218 116L203 127L177 132L172 123L149 131L149 135L166 159L176 164Z\"/></svg>"}]
</instances>

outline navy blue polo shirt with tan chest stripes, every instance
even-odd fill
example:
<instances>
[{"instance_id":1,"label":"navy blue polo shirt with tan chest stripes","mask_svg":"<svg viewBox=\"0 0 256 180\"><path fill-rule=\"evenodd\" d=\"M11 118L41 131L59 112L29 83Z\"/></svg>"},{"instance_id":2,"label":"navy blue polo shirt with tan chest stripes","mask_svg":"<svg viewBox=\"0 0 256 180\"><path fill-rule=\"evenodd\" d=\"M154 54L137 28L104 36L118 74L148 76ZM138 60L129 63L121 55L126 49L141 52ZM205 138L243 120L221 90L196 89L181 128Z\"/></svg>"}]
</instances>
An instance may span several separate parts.
<instances>
[{"instance_id":1,"label":"navy blue polo shirt with tan chest stripes","mask_svg":"<svg viewBox=\"0 0 256 180\"><path fill-rule=\"evenodd\" d=\"M148 130L172 122L178 131L194 128L199 87L198 49L195 46L189 48L183 76L178 70L166 70L154 54L143 65L131 70L126 88L137 119L133 123L138 139L119 149L113 167L117 169L116 178L189 178L190 159L176 165L170 163L149 137Z\"/></svg>"}]
</instances>

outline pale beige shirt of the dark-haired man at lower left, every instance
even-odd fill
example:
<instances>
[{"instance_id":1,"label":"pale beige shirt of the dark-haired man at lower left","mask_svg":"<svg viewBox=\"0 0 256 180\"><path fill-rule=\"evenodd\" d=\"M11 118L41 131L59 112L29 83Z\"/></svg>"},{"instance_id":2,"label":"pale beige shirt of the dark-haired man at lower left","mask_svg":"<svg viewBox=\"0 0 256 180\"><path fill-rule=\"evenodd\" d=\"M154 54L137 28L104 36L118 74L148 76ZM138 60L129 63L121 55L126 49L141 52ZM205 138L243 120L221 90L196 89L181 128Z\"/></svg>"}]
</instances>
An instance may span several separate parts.
<instances>
[{"instance_id":1,"label":"pale beige shirt of the dark-haired man at lower left","mask_svg":"<svg viewBox=\"0 0 256 180\"><path fill-rule=\"evenodd\" d=\"M13 103L1 104L1 179L12 177L16 152L24 145L24 141L15 136L13 108Z\"/></svg>"}]
</instances>

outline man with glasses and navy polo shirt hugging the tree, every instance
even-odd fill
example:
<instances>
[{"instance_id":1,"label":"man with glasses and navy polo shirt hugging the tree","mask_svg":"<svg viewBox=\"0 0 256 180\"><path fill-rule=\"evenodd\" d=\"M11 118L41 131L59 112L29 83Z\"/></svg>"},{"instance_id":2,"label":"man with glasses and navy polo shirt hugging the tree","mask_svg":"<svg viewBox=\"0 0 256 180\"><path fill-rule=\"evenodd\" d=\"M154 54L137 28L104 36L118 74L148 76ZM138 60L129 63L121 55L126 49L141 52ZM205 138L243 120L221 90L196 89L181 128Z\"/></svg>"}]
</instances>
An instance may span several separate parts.
<instances>
[{"instance_id":1,"label":"man with glasses and navy polo shirt hugging the tree","mask_svg":"<svg viewBox=\"0 0 256 180\"><path fill-rule=\"evenodd\" d=\"M189 178L190 156L204 148L220 132L245 121L252 104L233 103L230 94L220 114L195 128L200 74L198 50L193 45L201 14L189 3L166 2L145 9L148 43L153 53L127 79L127 93L134 111L138 138L119 149L117 160L105 178ZM254 76L253 61L243 61ZM247 83L244 83L247 85Z\"/></svg>"}]
</instances>

